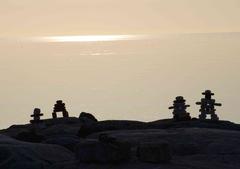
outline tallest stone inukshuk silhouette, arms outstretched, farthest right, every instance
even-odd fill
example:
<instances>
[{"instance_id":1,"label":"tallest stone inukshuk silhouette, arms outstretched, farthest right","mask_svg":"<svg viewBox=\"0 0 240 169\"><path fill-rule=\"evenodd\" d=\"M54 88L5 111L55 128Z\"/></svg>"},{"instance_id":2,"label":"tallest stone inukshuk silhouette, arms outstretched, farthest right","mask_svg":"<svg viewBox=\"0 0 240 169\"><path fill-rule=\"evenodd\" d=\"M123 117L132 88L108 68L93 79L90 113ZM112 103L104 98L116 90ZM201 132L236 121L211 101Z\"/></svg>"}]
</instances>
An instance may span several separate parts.
<instances>
[{"instance_id":1,"label":"tallest stone inukshuk silhouette, arms outstretched, farthest right","mask_svg":"<svg viewBox=\"0 0 240 169\"><path fill-rule=\"evenodd\" d=\"M201 114L199 115L199 119L204 120L206 119L207 115L211 115L211 120L219 120L217 114L215 113L216 109L215 106L222 106L221 103L215 103L215 100L212 99L214 93L211 90L206 90L202 93L205 98L201 99L201 102L196 102L197 105L201 105L199 111Z\"/></svg>"}]
</instances>

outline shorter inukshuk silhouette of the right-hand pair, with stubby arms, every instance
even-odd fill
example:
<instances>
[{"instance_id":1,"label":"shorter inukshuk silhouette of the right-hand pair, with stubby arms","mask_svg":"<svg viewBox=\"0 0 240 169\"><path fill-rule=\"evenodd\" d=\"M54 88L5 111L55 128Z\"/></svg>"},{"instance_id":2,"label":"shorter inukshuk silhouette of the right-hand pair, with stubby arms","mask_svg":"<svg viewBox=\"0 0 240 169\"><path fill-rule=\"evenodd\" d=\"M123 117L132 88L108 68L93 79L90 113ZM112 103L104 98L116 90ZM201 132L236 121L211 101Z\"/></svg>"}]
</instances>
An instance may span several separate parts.
<instances>
[{"instance_id":1,"label":"shorter inukshuk silhouette of the right-hand pair, with stubby arms","mask_svg":"<svg viewBox=\"0 0 240 169\"><path fill-rule=\"evenodd\" d=\"M173 101L173 106L169 107L169 109L173 109L174 120L181 121L191 119L190 114L186 111L190 105L186 105L185 102L186 100L184 100L182 96L177 96L176 100Z\"/></svg>"}]
</instances>

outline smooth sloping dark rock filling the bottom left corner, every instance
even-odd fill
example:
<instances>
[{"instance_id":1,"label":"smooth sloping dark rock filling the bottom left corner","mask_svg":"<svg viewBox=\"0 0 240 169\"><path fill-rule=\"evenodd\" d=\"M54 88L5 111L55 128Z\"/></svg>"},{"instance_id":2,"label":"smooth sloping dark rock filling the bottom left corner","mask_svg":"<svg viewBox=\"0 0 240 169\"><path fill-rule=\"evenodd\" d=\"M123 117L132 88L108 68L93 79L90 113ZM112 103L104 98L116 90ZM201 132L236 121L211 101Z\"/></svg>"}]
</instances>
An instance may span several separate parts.
<instances>
[{"instance_id":1,"label":"smooth sloping dark rock filling the bottom left corner","mask_svg":"<svg viewBox=\"0 0 240 169\"><path fill-rule=\"evenodd\" d=\"M74 156L63 147L26 143L0 135L0 168L43 169L66 161L74 161Z\"/></svg>"}]
</instances>

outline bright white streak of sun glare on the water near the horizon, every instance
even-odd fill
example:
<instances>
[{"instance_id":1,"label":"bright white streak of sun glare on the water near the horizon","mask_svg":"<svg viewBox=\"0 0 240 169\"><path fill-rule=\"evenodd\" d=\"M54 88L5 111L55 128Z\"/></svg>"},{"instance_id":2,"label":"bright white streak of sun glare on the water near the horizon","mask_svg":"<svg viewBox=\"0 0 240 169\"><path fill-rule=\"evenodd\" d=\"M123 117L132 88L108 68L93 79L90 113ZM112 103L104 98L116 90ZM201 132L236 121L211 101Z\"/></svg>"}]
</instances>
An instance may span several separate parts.
<instances>
[{"instance_id":1,"label":"bright white streak of sun glare on the water near the horizon","mask_svg":"<svg viewBox=\"0 0 240 169\"><path fill-rule=\"evenodd\" d=\"M82 36L47 36L37 38L43 42L101 42L101 41L120 41L135 40L135 35L82 35Z\"/></svg>"}]
</instances>

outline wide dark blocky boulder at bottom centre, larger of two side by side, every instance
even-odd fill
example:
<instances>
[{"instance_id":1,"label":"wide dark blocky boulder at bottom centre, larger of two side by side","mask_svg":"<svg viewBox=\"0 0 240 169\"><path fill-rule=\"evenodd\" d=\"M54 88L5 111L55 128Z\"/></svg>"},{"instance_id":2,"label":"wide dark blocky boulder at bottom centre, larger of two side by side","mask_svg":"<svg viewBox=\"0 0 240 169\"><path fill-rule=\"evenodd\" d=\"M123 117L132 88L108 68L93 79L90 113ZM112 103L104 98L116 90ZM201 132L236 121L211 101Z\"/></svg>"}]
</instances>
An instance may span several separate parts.
<instances>
[{"instance_id":1,"label":"wide dark blocky boulder at bottom centre, larger of two side by side","mask_svg":"<svg viewBox=\"0 0 240 169\"><path fill-rule=\"evenodd\" d=\"M78 144L76 157L85 163L119 163L130 159L130 146L124 143L108 144L98 140L86 140Z\"/></svg>"}]
</instances>

